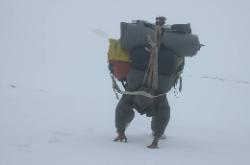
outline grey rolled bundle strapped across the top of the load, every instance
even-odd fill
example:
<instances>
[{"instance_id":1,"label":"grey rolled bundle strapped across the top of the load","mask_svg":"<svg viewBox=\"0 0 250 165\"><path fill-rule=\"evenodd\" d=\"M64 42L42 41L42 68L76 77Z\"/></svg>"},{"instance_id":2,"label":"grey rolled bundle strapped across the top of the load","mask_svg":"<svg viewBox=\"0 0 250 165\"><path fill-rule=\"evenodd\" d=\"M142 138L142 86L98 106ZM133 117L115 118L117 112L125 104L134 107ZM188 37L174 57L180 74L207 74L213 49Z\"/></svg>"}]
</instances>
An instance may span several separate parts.
<instances>
[{"instance_id":1,"label":"grey rolled bundle strapped across the top of the load","mask_svg":"<svg viewBox=\"0 0 250 165\"><path fill-rule=\"evenodd\" d=\"M121 47L132 50L135 47L146 47L148 35L153 37L155 26L145 21L136 23L121 22ZM194 56L200 49L197 35L191 33L190 24L163 26L161 46L176 53L177 56Z\"/></svg>"}]
</instances>

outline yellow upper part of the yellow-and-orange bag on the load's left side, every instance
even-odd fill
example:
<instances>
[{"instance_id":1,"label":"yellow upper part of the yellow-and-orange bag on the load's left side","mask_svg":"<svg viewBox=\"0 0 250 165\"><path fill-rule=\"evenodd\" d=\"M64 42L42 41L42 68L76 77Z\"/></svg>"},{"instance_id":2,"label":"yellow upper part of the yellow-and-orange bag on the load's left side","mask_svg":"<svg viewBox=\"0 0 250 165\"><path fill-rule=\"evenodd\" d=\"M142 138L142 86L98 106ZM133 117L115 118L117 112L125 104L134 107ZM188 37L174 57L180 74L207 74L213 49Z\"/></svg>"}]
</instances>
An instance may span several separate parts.
<instances>
[{"instance_id":1,"label":"yellow upper part of the yellow-and-orange bag on the load's left side","mask_svg":"<svg viewBox=\"0 0 250 165\"><path fill-rule=\"evenodd\" d=\"M122 62L131 62L128 52L121 48L119 40L109 39L108 59Z\"/></svg>"}]
</instances>

